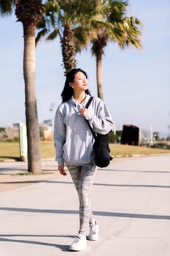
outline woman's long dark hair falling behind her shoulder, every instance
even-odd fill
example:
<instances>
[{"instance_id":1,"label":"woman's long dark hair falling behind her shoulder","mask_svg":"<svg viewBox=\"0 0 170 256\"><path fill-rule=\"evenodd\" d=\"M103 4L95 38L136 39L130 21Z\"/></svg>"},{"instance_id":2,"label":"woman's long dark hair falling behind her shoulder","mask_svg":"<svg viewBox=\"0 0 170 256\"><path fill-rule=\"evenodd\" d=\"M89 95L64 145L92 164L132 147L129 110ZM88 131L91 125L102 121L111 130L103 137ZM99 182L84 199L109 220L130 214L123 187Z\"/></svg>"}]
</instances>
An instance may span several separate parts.
<instances>
[{"instance_id":1,"label":"woman's long dark hair falling behind her shoulder","mask_svg":"<svg viewBox=\"0 0 170 256\"><path fill-rule=\"evenodd\" d=\"M75 75L77 74L77 72L82 72L85 75L85 77L88 78L87 73L80 68L78 68L78 69L74 68L74 69L70 70L66 75L65 85L64 85L63 91L61 93L63 102L66 102L74 95L74 91L73 91L72 87L69 85L69 83L74 82L74 78L75 78ZM85 90L85 93L90 94L90 91L87 89L87 90Z\"/></svg>"}]
</instances>

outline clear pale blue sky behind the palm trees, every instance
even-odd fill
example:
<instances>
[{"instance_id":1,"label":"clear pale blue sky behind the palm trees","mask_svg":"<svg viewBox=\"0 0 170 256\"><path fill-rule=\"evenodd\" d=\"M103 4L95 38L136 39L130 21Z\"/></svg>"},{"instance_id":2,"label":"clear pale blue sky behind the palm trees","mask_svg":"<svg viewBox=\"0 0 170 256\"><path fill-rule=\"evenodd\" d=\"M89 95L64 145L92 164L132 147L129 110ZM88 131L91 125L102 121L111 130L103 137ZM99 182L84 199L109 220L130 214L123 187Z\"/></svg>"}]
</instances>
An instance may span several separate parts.
<instances>
[{"instance_id":1,"label":"clear pale blue sky behind the palm trees","mask_svg":"<svg viewBox=\"0 0 170 256\"><path fill-rule=\"evenodd\" d=\"M170 130L170 1L131 0L129 15L143 23L142 50L120 50L110 42L102 65L104 102L117 129L134 124L168 135ZM23 27L15 15L0 18L0 127L25 121ZM58 40L42 40L36 48L36 98L39 122L53 118L61 102L64 75ZM96 91L96 60L90 48L77 55L89 89ZM50 111L50 105L54 110Z\"/></svg>"}]
</instances>

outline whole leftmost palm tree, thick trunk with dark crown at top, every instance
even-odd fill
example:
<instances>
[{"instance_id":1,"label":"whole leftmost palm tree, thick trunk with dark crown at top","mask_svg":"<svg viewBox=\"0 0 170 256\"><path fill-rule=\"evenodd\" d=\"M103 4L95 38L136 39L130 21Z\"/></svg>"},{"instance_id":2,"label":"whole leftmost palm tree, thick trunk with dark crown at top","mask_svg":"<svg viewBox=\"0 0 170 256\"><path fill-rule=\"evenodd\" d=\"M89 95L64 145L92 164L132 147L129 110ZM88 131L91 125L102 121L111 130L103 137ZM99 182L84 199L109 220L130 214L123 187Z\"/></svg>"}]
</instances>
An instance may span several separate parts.
<instances>
[{"instance_id":1,"label":"whole leftmost palm tree, thick trunk with dark crown at top","mask_svg":"<svg viewBox=\"0 0 170 256\"><path fill-rule=\"evenodd\" d=\"M35 29L42 18L44 7L41 0L1 1L1 14L10 14L13 8L18 21L23 23L24 53L23 76L26 96L26 127L28 140L28 171L41 173L39 151L39 124L35 93Z\"/></svg>"}]
</instances>

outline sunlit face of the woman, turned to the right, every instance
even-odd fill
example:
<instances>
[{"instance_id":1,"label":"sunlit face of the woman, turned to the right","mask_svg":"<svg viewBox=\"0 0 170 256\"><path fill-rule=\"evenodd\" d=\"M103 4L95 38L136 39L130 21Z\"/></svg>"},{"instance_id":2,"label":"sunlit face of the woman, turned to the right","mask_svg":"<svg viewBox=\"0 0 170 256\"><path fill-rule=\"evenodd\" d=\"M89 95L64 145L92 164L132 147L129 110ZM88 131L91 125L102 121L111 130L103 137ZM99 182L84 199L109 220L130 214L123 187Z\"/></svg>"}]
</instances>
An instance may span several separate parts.
<instances>
[{"instance_id":1,"label":"sunlit face of the woman, turned to the right","mask_svg":"<svg viewBox=\"0 0 170 256\"><path fill-rule=\"evenodd\" d=\"M83 72L79 71L76 73L73 83L69 83L69 85L72 86L74 91L85 91L88 89L88 78Z\"/></svg>"}]
</instances>

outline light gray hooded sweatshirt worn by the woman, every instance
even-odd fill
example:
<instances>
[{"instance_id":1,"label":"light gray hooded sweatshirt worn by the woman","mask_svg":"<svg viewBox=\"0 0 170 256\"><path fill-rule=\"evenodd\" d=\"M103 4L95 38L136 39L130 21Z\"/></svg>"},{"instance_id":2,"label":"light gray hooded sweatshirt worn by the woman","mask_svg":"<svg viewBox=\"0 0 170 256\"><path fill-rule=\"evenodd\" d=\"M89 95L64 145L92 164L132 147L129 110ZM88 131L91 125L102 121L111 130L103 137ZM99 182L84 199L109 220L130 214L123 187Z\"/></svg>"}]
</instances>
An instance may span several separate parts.
<instances>
[{"instance_id":1,"label":"light gray hooded sweatshirt worn by the woman","mask_svg":"<svg viewBox=\"0 0 170 256\"><path fill-rule=\"evenodd\" d=\"M88 127L88 120L93 131L107 134L113 129L112 117L104 102L94 97L88 107L88 116L80 116L80 108L90 99L87 95L81 104L72 97L61 103L55 113L54 143L58 165L84 165L93 162L93 134Z\"/></svg>"}]
</instances>

